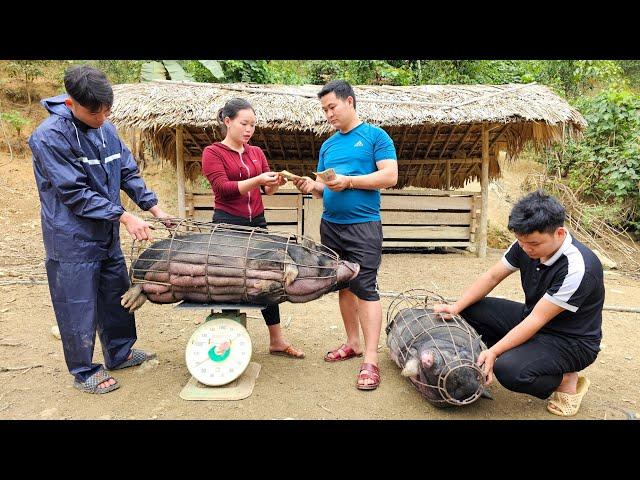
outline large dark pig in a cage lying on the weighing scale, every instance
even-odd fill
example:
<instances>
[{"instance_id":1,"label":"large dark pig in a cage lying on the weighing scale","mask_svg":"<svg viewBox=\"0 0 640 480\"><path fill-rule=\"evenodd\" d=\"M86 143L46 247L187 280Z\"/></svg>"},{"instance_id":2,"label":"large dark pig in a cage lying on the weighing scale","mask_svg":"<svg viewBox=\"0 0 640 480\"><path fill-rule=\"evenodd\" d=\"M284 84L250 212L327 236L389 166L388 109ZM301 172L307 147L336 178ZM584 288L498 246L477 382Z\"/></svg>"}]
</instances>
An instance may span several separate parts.
<instances>
[{"instance_id":1,"label":"large dark pig in a cage lying on the weighing scale","mask_svg":"<svg viewBox=\"0 0 640 480\"><path fill-rule=\"evenodd\" d=\"M308 237L223 223L149 219L154 241L133 241L131 288L122 305L147 299L196 303L304 303L348 286L360 271Z\"/></svg>"}]
</instances>

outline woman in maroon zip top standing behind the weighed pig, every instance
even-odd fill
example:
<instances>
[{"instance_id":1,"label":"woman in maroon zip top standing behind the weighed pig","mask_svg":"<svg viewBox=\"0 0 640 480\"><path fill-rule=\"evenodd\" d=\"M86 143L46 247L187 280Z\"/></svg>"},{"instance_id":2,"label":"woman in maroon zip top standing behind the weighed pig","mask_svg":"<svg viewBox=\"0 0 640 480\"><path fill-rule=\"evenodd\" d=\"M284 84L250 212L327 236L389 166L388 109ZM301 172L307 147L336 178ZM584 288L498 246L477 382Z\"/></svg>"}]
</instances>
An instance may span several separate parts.
<instances>
[{"instance_id":1,"label":"woman in maroon zip top standing behind the weighed pig","mask_svg":"<svg viewBox=\"0 0 640 480\"><path fill-rule=\"evenodd\" d=\"M226 136L202 152L202 173L215 195L213 222L267 228L260 192L273 195L287 180L270 171L260 147L249 145L256 128L256 114L249 102L229 100L217 119ZM269 352L304 358L304 353L282 336L278 305L262 310L262 316L269 328Z\"/></svg>"}]
</instances>

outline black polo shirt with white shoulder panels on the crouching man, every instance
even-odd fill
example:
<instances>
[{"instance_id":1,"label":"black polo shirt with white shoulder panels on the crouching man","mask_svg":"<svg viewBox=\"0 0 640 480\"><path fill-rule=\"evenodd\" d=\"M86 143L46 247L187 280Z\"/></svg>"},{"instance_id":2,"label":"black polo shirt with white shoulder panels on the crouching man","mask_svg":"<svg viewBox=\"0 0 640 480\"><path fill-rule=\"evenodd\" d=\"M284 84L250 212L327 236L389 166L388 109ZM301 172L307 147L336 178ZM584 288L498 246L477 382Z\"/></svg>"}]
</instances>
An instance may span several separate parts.
<instances>
[{"instance_id":1,"label":"black polo shirt with white shoulder panels on the crouching man","mask_svg":"<svg viewBox=\"0 0 640 480\"><path fill-rule=\"evenodd\" d=\"M561 334L599 345L602 338L604 278L596 255L567 232L562 246L545 262L530 258L516 240L502 257L511 271L520 270L525 294L522 318L541 298L564 308L541 332Z\"/></svg>"}]
</instances>

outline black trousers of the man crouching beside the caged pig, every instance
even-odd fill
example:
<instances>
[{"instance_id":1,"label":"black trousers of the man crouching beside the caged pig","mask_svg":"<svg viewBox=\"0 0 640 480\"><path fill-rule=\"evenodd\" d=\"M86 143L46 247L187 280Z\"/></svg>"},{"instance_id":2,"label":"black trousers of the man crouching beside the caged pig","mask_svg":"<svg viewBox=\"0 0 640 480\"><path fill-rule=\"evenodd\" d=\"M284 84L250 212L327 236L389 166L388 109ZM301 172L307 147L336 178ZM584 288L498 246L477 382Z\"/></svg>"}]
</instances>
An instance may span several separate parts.
<instances>
[{"instance_id":1,"label":"black trousers of the man crouching beside the caged pig","mask_svg":"<svg viewBox=\"0 0 640 480\"><path fill-rule=\"evenodd\" d=\"M523 311L522 303L486 297L460 315L491 347L523 320ZM558 388L564 373L583 370L597 355L597 346L580 339L538 331L500 355L493 373L503 387L545 399Z\"/></svg>"}]
</instances>

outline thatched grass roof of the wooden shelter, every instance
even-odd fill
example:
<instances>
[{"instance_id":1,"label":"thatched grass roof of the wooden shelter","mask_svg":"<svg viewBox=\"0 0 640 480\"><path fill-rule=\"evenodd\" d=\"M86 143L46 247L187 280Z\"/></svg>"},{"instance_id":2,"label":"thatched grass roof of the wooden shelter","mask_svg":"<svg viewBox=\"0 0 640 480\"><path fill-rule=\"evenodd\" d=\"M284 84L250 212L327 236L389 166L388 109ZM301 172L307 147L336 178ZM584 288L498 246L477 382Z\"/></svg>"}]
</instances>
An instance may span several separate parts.
<instances>
[{"instance_id":1,"label":"thatched grass roof of the wooden shelter","mask_svg":"<svg viewBox=\"0 0 640 480\"><path fill-rule=\"evenodd\" d=\"M216 113L233 97L246 98L258 118L251 143L260 146L272 169L309 174L324 139L333 133L324 118L319 85L285 86L149 82L115 85L112 121L142 130L154 153L175 159L174 128L185 131L185 158L220 139ZM490 176L500 175L498 149L515 157L527 142L548 146L579 136L582 115L549 88L523 85L355 86L361 120L384 128L399 158L398 187L441 188L447 169L452 187L480 174L482 125L490 132ZM449 159L447 167L446 160ZM188 165L190 178L199 165Z\"/></svg>"}]
</instances>

